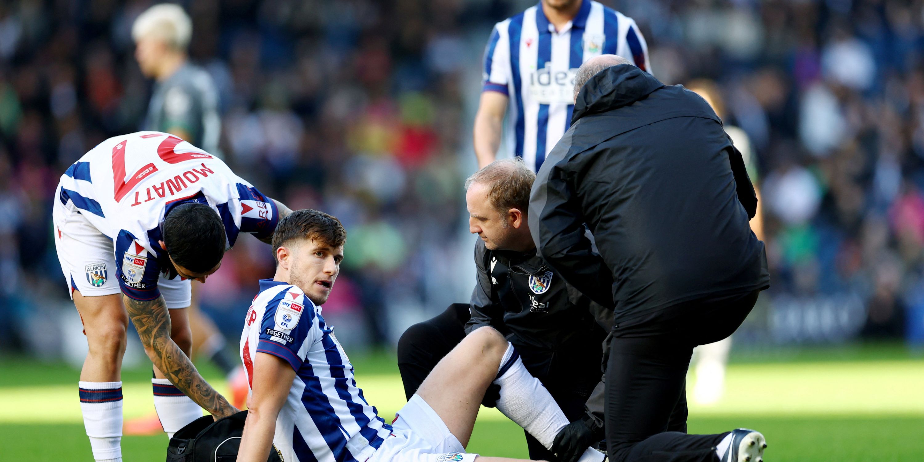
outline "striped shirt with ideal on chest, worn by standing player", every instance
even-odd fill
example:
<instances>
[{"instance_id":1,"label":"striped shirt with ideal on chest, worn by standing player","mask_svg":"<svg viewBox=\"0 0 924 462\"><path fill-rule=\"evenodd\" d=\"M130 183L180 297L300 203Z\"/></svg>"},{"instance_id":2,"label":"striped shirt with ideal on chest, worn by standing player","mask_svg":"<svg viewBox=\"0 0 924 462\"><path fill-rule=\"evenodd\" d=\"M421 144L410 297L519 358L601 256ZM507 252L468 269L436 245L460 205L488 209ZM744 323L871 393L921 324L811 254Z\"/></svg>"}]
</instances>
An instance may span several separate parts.
<instances>
[{"instance_id":1,"label":"striped shirt with ideal on chest, worn by standing player","mask_svg":"<svg viewBox=\"0 0 924 462\"><path fill-rule=\"evenodd\" d=\"M484 91L510 97L507 142L539 171L571 125L577 67L620 55L650 72L648 45L632 18L592 0L556 31L541 3L498 22L484 54Z\"/></svg>"}]
</instances>

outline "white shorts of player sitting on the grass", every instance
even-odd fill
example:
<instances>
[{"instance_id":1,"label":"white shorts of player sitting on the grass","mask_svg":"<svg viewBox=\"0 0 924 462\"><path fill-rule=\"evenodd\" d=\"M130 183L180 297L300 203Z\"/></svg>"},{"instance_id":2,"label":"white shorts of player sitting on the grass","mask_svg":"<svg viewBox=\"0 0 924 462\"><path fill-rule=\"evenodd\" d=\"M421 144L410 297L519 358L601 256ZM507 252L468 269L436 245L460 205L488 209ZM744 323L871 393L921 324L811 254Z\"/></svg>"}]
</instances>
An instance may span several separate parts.
<instances>
[{"instance_id":1,"label":"white shorts of player sitting on the grass","mask_svg":"<svg viewBox=\"0 0 924 462\"><path fill-rule=\"evenodd\" d=\"M419 395L397 412L394 436L385 439L367 462L474 462L443 419Z\"/></svg>"}]
</instances>

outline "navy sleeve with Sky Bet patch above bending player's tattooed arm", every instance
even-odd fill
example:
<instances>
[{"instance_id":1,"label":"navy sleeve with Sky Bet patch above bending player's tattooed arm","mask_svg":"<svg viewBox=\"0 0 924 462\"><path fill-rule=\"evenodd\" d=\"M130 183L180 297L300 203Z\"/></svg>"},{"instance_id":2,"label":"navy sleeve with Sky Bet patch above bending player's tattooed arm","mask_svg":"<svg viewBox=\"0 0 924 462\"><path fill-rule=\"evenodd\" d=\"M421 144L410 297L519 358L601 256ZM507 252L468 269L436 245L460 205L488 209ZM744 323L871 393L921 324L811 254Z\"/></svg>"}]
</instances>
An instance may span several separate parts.
<instances>
[{"instance_id":1,"label":"navy sleeve with Sky Bet patch above bending player's tattooed arm","mask_svg":"<svg viewBox=\"0 0 924 462\"><path fill-rule=\"evenodd\" d=\"M116 275L122 293L128 298L148 301L161 295L157 288L160 277L157 258L124 229L116 237Z\"/></svg>"}]
</instances>

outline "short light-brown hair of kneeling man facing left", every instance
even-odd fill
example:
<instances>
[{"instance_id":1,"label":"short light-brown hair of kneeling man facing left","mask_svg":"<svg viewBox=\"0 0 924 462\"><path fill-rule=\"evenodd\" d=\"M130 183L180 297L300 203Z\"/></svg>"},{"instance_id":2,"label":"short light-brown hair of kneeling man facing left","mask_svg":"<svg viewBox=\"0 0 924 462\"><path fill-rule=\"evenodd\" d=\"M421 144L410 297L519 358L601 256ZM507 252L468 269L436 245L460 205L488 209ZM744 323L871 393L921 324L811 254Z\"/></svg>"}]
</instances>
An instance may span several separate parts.
<instances>
[{"instance_id":1,"label":"short light-brown hair of kneeling man facing left","mask_svg":"<svg viewBox=\"0 0 924 462\"><path fill-rule=\"evenodd\" d=\"M468 176L465 189L474 183L487 185L488 199L494 209L504 215L510 209L518 209L524 215L529 210L529 190L536 174L520 157L507 157L485 165Z\"/></svg>"}]
</instances>

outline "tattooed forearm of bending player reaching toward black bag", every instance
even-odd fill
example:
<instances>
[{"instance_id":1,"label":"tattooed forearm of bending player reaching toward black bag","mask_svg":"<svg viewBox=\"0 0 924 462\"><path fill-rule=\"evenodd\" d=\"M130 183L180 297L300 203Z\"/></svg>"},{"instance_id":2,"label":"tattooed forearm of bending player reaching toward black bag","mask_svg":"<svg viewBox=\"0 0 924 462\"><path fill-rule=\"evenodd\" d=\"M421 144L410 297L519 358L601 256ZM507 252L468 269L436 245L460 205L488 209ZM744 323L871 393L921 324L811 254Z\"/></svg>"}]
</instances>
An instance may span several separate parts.
<instances>
[{"instance_id":1,"label":"tattooed forearm of bending player reaching toward black bag","mask_svg":"<svg viewBox=\"0 0 924 462\"><path fill-rule=\"evenodd\" d=\"M192 361L176 346L170 338L170 315L164 304L164 298L150 301L138 301L128 297L122 298L128 310L131 322L138 330L141 345L151 358L154 366L180 391L189 396L199 406L205 408L216 418L229 416L237 409L227 402L225 396L219 395L212 385L205 382Z\"/></svg>"}]
</instances>

